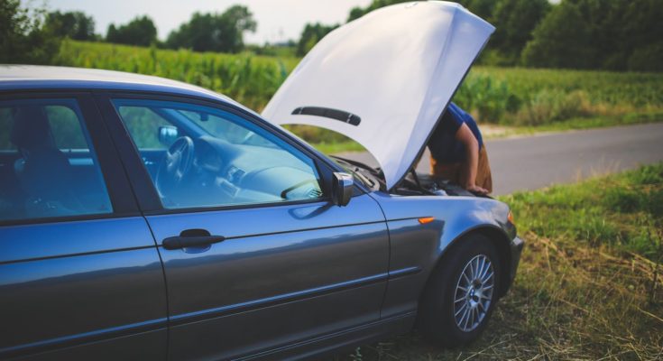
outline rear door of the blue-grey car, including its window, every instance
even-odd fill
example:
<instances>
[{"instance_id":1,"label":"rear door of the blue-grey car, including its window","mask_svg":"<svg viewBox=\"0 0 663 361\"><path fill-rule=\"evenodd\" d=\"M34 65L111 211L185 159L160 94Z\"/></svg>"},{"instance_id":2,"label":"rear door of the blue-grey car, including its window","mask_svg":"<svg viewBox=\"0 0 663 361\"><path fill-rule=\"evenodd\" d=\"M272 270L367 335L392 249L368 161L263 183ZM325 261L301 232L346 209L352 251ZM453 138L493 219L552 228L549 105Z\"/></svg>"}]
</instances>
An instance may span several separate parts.
<instances>
[{"instance_id":1,"label":"rear door of the blue-grey car, including its window","mask_svg":"<svg viewBox=\"0 0 663 361\"><path fill-rule=\"evenodd\" d=\"M0 94L0 358L165 359L150 229L91 96Z\"/></svg>"}]
</instances>

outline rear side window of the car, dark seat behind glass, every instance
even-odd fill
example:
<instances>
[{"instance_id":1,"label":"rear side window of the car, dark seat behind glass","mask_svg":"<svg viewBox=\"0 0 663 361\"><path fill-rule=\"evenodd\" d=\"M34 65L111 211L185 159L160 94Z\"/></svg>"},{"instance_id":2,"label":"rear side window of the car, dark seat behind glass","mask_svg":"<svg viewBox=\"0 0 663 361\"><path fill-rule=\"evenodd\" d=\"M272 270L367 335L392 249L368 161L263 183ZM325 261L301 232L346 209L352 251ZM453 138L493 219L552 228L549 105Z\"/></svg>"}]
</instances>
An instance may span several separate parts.
<instances>
[{"instance_id":1,"label":"rear side window of the car, dark seat behind glass","mask_svg":"<svg viewBox=\"0 0 663 361\"><path fill-rule=\"evenodd\" d=\"M112 213L73 99L0 101L0 221Z\"/></svg>"}]
</instances>

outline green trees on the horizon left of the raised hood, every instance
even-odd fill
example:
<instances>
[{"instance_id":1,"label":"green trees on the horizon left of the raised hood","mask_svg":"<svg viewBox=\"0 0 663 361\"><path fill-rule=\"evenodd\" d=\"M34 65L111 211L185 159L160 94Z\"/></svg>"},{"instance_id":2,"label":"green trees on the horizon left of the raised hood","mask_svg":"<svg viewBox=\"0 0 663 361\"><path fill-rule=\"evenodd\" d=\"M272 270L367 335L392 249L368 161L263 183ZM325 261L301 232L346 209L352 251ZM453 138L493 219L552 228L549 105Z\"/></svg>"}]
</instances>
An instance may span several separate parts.
<instances>
[{"instance_id":1,"label":"green trees on the horizon left of the raised hood","mask_svg":"<svg viewBox=\"0 0 663 361\"><path fill-rule=\"evenodd\" d=\"M189 22L157 38L148 15L124 24L110 24L106 36L98 34L95 20L82 12L47 12L21 6L20 0L0 0L0 62L47 63L57 52L60 39L113 42L193 51L238 52L244 50L244 32L257 23L246 6L233 5L223 13L194 13Z\"/></svg>"}]
</instances>

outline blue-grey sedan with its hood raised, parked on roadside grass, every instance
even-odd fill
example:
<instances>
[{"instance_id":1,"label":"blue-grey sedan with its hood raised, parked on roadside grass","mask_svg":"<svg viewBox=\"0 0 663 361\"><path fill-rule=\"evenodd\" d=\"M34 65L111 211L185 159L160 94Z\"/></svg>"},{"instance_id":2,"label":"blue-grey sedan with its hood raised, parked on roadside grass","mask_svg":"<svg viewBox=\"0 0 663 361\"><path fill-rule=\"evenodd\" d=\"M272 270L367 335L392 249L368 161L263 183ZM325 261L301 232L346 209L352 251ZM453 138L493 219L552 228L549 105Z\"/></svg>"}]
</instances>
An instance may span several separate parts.
<instances>
[{"instance_id":1,"label":"blue-grey sedan with its hood raised, parked on roadside grass","mask_svg":"<svg viewBox=\"0 0 663 361\"><path fill-rule=\"evenodd\" d=\"M320 42L263 116L168 79L0 66L0 358L311 358L415 326L473 341L523 242L507 205L413 164L491 32L451 3L385 7Z\"/></svg>"}]
</instances>

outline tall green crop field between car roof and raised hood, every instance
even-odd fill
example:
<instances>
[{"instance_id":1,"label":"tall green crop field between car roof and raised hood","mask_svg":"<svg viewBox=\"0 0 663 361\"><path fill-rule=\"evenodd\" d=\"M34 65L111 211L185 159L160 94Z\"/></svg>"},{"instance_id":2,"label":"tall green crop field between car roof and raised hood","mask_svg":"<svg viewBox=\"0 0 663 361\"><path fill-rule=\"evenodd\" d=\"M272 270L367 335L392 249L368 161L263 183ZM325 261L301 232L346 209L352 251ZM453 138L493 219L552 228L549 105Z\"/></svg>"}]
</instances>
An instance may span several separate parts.
<instances>
[{"instance_id":1,"label":"tall green crop field between car roof and raised hood","mask_svg":"<svg viewBox=\"0 0 663 361\"><path fill-rule=\"evenodd\" d=\"M281 86L296 58L251 53L170 51L96 42L63 42L56 63L154 75L209 88L261 110Z\"/></svg>"}]
</instances>

